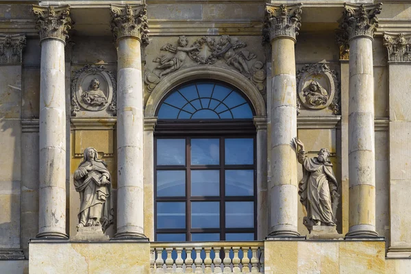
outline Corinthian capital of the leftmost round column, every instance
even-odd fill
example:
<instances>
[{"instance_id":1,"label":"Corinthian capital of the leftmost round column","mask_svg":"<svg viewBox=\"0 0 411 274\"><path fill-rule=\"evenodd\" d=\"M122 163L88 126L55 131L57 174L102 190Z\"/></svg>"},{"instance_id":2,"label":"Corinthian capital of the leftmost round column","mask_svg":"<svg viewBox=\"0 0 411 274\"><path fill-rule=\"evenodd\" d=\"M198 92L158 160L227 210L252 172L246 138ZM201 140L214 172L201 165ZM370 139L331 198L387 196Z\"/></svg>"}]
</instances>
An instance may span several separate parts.
<instances>
[{"instance_id":1,"label":"Corinthian capital of the leftmost round column","mask_svg":"<svg viewBox=\"0 0 411 274\"><path fill-rule=\"evenodd\" d=\"M73 27L69 8L69 5L55 7L52 5L49 7L33 5L40 41L54 38L66 42L66 38L69 38L69 30Z\"/></svg>"}]
</instances>

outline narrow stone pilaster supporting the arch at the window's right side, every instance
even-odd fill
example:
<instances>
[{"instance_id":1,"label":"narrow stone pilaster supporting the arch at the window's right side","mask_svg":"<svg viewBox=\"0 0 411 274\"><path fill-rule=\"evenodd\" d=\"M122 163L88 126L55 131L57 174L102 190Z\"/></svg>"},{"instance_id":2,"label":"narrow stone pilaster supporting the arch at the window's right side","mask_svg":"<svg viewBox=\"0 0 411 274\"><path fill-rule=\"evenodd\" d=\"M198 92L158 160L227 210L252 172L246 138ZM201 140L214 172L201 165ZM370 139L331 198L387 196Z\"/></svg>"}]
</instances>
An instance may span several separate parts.
<instances>
[{"instance_id":1,"label":"narrow stone pilaster supporting the arch at the window's right side","mask_svg":"<svg viewBox=\"0 0 411 274\"><path fill-rule=\"evenodd\" d=\"M267 235L267 119L265 116L254 116L257 129L257 235L264 240Z\"/></svg>"}]
</instances>

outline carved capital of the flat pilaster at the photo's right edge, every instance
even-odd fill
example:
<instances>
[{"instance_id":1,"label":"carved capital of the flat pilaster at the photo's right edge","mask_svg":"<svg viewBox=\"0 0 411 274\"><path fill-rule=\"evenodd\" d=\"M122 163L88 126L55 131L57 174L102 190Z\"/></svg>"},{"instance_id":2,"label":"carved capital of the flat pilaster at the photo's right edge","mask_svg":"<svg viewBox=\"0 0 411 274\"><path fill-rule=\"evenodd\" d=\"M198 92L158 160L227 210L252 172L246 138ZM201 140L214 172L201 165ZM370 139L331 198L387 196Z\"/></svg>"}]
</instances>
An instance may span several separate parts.
<instances>
[{"instance_id":1,"label":"carved capital of the flat pilaster at the photo's right edge","mask_svg":"<svg viewBox=\"0 0 411 274\"><path fill-rule=\"evenodd\" d=\"M411 34L384 33L388 62L411 62Z\"/></svg>"}]
</instances>

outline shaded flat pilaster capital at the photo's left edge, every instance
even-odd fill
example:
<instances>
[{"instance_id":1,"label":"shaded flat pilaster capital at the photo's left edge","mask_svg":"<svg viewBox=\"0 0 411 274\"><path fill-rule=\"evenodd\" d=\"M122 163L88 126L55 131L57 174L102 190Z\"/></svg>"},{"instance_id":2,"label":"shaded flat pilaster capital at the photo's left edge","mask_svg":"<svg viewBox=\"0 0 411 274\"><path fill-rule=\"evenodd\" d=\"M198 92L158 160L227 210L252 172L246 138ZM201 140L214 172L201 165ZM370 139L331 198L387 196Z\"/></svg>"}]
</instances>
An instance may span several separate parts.
<instances>
[{"instance_id":1,"label":"shaded flat pilaster capital at the photo's left edge","mask_svg":"<svg viewBox=\"0 0 411 274\"><path fill-rule=\"evenodd\" d=\"M0 34L0 64L19 64L26 45L24 34Z\"/></svg>"}]
</instances>

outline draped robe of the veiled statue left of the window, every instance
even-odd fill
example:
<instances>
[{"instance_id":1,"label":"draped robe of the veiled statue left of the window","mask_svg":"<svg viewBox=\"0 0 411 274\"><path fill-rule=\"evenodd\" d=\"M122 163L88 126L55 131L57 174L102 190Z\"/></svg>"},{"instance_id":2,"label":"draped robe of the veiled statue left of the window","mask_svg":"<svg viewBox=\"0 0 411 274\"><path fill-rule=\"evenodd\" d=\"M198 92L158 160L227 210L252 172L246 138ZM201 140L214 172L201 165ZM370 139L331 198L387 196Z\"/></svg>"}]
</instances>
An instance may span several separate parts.
<instances>
[{"instance_id":1,"label":"draped robe of the veiled statue left of the window","mask_svg":"<svg viewBox=\"0 0 411 274\"><path fill-rule=\"evenodd\" d=\"M74 173L74 186L81 201L79 223L87 225L82 220L83 213L88 220L96 218L105 230L113 221L111 183L101 184L101 177L105 175L110 182L110 173L103 162L93 161L92 171L87 171L86 166L90 166L90 161L80 164Z\"/></svg>"}]
</instances>

